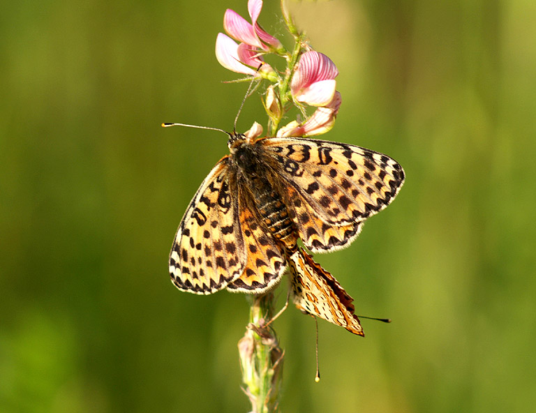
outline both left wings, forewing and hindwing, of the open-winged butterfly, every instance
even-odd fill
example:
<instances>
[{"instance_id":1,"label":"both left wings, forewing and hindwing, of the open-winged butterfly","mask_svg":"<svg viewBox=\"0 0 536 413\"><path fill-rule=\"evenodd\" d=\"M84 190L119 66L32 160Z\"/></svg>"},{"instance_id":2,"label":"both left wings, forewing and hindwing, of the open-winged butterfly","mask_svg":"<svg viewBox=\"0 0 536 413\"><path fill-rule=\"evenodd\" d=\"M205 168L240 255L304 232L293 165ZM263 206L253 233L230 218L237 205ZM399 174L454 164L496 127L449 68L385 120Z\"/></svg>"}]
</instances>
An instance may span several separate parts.
<instances>
[{"instance_id":1,"label":"both left wings, forewing and hindwing, of the open-winged butterfly","mask_svg":"<svg viewBox=\"0 0 536 413\"><path fill-rule=\"evenodd\" d=\"M179 225L170 274L179 290L260 294L285 271L281 247L260 222L248 190L226 156L204 179Z\"/></svg>"}]
</instances>

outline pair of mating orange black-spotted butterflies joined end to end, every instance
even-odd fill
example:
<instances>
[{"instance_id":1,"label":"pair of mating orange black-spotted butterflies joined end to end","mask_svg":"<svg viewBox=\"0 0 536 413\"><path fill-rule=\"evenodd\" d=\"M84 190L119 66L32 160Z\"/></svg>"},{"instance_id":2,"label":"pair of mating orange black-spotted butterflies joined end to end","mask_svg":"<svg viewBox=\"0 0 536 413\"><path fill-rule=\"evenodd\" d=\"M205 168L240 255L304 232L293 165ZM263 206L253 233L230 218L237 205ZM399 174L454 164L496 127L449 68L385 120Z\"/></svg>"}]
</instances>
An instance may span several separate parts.
<instances>
[{"instance_id":1,"label":"pair of mating orange black-spotted butterflies joined end to end","mask_svg":"<svg viewBox=\"0 0 536 413\"><path fill-rule=\"evenodd\" d=\"M352 297L297 241L313 253L348 246L399 193L401 165L350 144L228 135L230 154L204 179L175 235L174 285L262 294L288 268L297 308L363 336Z\"/></svg>"}]
</instances>

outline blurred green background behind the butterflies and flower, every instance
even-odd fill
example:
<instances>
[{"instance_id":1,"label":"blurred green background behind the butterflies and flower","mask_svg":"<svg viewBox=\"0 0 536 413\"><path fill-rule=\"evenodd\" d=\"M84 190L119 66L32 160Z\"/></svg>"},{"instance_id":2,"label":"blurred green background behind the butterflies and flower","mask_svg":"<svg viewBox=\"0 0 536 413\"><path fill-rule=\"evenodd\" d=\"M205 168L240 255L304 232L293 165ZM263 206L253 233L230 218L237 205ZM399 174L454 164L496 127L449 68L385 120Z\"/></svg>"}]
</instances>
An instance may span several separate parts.
<instances>
[{"instance_id":1,"label":"blurred green background behind the butterflies and flower","mask_svg":"<svg viewBox=\"0 0 536 413\"><path fill-rule=\"evenodd\" d=\"M278 2L260 22L281 35ZM176 290L168 251L228 153L244 84L214 40L245 0L11 1L0 14L0 412L247 412L246 299ZM528 412L536 403L536 3L305 2L337 64L329 140L407 180L317 255L366 338L289 308L285 412ZM258 94L239 130L266 123ZM283 305L287 283L279 288Z\"/></svg>"}]
</instances>

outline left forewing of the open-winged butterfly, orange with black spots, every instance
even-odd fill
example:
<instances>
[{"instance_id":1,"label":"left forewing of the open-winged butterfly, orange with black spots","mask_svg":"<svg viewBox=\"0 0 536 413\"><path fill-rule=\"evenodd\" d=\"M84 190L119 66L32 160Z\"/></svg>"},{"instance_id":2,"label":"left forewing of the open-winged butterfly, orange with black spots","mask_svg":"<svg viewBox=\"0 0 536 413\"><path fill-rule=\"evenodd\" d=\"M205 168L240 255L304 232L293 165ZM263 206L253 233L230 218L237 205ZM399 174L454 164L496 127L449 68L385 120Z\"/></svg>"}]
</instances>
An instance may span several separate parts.
<instances>
[{"instance_id":1,"label":"left forewing of the open-winged butterfly, orange with black spots","mask_svg":"<svg viewBox=\"0 0 536 413\"><path fill-rule=\"evenodd\" d=\"M246 252L236 187L236 173L225 156L186 209L170 253L170 276L179 290L211 294L244 270Z\"/></svg>"}]
</instances>

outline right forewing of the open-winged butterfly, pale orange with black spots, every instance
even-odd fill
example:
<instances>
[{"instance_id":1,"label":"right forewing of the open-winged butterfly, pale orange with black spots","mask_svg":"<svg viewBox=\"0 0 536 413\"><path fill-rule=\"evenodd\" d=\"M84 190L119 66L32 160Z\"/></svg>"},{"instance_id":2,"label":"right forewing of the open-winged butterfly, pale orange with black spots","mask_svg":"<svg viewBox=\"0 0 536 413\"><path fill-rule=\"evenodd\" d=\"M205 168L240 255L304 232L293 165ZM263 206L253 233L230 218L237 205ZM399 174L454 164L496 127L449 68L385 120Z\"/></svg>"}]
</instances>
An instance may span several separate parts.
<instances>
[{"instance_id":1,"label":"right forewing of the open-winged butterfly, pale orange with black spots","mask_svg":"<svg viewBox=\"0 0 536 413\"><path fill-rule=\"evenodd\" d=\"M255 143L275 160L278 176L327 224L365 220L387 207L403 184L399 163L361 147L285 137Z\"/></svg>"}]
</instances>

